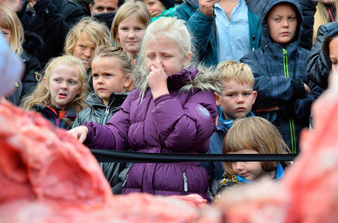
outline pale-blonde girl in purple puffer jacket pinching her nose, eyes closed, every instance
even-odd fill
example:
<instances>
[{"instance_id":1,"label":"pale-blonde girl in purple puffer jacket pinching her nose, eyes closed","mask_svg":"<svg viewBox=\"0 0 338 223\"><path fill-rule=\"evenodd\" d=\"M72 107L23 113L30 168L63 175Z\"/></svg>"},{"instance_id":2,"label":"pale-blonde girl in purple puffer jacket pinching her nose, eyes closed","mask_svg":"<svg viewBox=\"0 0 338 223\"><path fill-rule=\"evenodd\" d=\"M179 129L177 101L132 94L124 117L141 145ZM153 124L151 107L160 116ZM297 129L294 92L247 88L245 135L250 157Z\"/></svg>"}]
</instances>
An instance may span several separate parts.
<instances>
[{"instance_id":1,"label":"pale-blonde girl in purple puffer jacket pinching her nose, eyes closed","mask_svg":"<svg viewBox=\"0 0 338 223\"><path fill-rule=\"evenodd\" d=\"M191 37L182 20L160 18L146 29L136 89L105 126L85 122L69 131L89 148L155 153L205 153L215 131L221 76L191 66ZM200 194L210 201L199 162L137 163L122 194Z\"/></svg>"}]
</instances>

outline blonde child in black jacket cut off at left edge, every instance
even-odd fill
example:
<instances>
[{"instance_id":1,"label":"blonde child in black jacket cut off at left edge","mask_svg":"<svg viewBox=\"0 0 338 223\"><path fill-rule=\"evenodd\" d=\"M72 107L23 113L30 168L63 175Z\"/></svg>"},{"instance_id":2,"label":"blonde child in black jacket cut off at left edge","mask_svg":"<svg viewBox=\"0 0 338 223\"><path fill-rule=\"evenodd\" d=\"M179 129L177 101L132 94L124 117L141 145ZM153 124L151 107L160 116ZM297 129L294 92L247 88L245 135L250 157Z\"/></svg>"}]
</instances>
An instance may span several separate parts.
<instances>
[{"instance_id":1,"label":"blonde child in black jacket cut off at left edge","mask_svg":"<svg viewBox=\"0 0 338 223\"><path fill-rule=\"evenodd\" d=\"M33 39L32 34L28 35L30 38L29 40L26 40L24 49L23 44L25 36L23 26L21 25L16 12L5 5L0 5L0 31L9 44L11 51L20 56L25 63L25 72L21 78L22 91L17 92L18 94L15 102L10 100L17 105L19 100L21 100L25 94L30 93L34 89L41 77L40 73L42 67L40 61L36 57L36 49L39 48L40 39ZM40 44L42 44L42 40L40 40ZM21 84L19 80L17 82Z\"/></svg>"}]
</instances>

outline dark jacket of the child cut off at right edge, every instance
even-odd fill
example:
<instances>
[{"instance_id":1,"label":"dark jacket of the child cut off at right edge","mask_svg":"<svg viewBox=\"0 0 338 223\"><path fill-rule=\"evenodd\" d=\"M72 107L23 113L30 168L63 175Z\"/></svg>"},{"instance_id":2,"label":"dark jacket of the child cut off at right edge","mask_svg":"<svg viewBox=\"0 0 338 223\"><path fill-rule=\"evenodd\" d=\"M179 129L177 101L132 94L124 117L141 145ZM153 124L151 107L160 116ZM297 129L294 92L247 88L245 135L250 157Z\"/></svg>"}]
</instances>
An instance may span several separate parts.
<instances>
[{"instance_id":1,"label":"dark jacket of the child cut off at right edge","mask_svg":"<svg viewBox=\"0 0 338 223\"><path fill-rule=\"evenodd\" d=\"M306 73L309 79L323 89L328 87L328 77L331 70L331 65L329 64L330 58L326 58L323 52L323 43L324 39L326 39L326 42L328 43L328 40L333 36L333 34L338 32L336 29L335 31L333 30L334 32L325 35L325 30L327 30L333 24L335 24L335 22L326 23L319 26L315 44L313 45L310 55L307 59ZM328 46L326 47L326 50L328 53Z\"/></svg>"}]
</instances>

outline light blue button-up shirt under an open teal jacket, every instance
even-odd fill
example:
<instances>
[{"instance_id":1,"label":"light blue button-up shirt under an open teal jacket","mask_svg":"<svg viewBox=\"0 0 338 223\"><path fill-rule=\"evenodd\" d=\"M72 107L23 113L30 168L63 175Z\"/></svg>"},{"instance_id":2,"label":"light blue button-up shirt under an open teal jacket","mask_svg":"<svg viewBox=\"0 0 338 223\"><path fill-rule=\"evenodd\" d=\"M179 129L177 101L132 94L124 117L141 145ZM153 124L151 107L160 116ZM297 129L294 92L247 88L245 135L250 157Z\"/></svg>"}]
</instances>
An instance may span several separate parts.
<instances>
[{"instance_id":1,"label":"light blue button-up shirt under an open teal jacket","mask_svg":"<svg viewBox=\"0 0 338 223\"><path fill-rule=\"evenodd\" d=\"M228 20L225 11L216 3L216 37L218 62L239 59L250 52L248 6L239 0Z\"/></svg>"}]
</instances>

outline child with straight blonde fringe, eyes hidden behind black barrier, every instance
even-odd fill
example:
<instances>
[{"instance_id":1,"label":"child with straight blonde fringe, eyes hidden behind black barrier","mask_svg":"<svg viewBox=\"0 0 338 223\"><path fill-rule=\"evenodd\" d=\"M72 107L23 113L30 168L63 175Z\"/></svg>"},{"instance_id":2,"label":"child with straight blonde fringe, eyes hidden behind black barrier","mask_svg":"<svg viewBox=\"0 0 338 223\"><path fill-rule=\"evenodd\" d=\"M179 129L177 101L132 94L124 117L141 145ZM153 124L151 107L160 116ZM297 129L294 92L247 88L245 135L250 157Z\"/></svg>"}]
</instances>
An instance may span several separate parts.
<instances>
[{"instance_id":1,"label":"child with straight blonde fringe, eyes hidden behind black barrier","mask_svg":"<svg viewBox=\"0 0 338 223\"><path fill-rule=\"evenodd\" d=\"M283 154L289 151L275 126L262 117L237 119L224 138L223 154ZM284 178L280 162L224 162L216 200L237 185Z\"/></svg>"}]
</instances>

